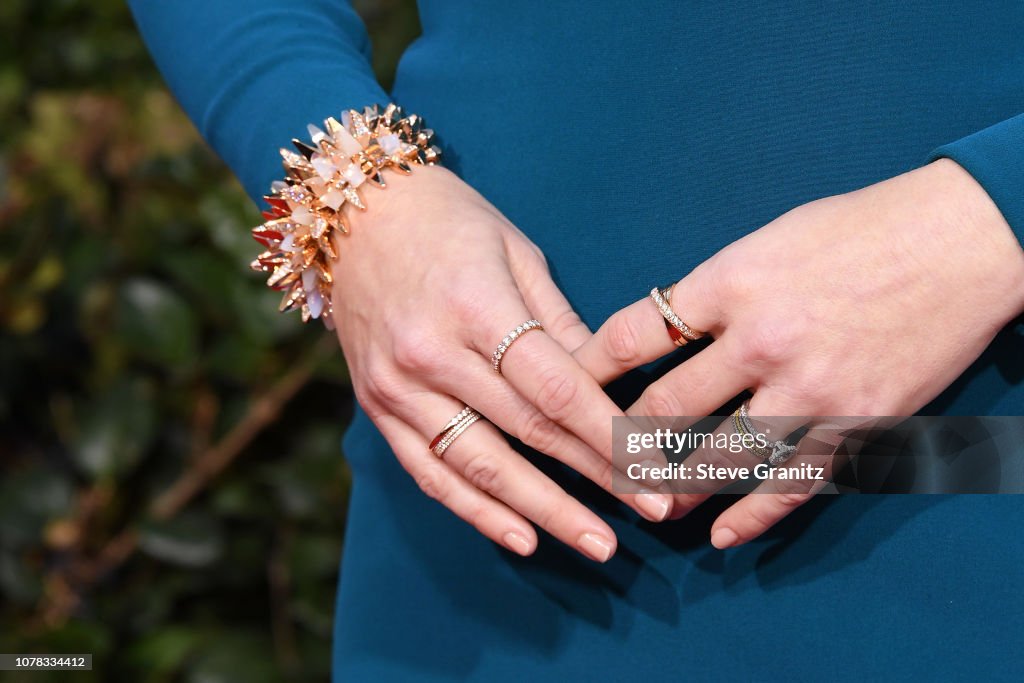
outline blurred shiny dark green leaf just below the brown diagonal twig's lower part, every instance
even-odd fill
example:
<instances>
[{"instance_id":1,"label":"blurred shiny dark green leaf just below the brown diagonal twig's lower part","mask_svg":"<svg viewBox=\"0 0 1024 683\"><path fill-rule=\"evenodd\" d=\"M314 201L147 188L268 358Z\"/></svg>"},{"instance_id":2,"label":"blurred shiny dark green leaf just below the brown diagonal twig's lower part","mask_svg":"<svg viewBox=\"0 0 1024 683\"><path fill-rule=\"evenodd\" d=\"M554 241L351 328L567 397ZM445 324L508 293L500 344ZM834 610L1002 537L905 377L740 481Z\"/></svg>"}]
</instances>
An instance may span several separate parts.
<instances>
[{"instance_id":1,"label":"blurred shiny dark green leaf just below the brown diagonal twig's lower part","mask_svg":"<svg viewBox=\"0 0 1024 683\"><path fill-rule=\"evenodd\" d=\"M139 530L138 544L147 555L185 567L209 566L224 550L220 523L200 512L147 521Z\"/></svg>"}]
</instances>

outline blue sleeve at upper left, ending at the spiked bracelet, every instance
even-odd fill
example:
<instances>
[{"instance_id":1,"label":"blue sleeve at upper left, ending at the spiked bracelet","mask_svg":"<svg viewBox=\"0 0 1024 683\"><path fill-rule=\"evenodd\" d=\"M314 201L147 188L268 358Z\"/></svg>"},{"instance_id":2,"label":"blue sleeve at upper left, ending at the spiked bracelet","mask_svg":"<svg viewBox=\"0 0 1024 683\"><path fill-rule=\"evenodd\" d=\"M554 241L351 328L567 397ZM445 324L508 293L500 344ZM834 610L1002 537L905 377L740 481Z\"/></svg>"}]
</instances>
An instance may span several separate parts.
<instances>
[{"instance_id":1,"label":"blue sleeve at upper left, ending at the spiked bracelet","mask_svg":"<svg viewBox=\"0 0 1024 683\"><path fill-rule=\"evenodd\" d=\"M347 0L129 0L142 38L200 133L255 200L278 150L343 109L386 103Z\"/></svg>"}]
</instances>

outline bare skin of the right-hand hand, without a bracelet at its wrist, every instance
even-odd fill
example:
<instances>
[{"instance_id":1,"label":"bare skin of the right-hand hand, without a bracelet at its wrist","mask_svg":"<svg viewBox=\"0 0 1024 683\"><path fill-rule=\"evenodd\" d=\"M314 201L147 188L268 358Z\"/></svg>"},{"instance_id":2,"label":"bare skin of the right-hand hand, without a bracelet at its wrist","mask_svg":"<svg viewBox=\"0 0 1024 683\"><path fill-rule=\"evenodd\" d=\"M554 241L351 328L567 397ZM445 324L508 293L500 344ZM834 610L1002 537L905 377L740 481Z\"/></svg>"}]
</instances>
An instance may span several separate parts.
<instances>
[{"instance_id":1,"label":"bare skin of the right-hand hand, without a bracelet at its wrist","mask_svg":"<svg viewBox=\"0 0 1024 683\"><path fill-rule=\"evenodd\" d=\"M981 185L939 160L790 211L695 268L674 286L671 303L714 341L627 414L705 416L751 390L752 416L783 416L760 418L775 434L810 428L786 467L821 464L821 451L804 443L829 442L829 430L800 416L921 410L1024 311L1024 250ZM574 355L604 384L674 349L656 307L642 300ZM701 450L687 464L760 462L745 451L737 458ZM765 480L719 516L712 543L751 541L814 493L806 481L787 488ZM678 494L673 516L708 495Z\"/></svg>"}]
</instances>

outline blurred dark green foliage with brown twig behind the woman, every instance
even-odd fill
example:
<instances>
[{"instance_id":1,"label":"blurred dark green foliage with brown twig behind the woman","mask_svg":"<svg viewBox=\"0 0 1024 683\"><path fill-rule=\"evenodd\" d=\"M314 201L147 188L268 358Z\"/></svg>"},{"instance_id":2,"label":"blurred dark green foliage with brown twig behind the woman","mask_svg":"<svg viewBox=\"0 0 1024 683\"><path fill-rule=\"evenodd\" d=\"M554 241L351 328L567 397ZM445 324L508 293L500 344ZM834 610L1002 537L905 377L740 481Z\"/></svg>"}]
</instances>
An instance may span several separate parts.
<instances>
[{"instance_id":1,"label":"blurred dark green foliage with brown twig behind the woman","mask_svg":"<svg viewBox=\"0 0 1024 683\"><path fill-rule=\"evenodd\" d=\"M388 84L411 0L356 3ZM0 3L3 680L325 680L351 392L121 0Z\"/></svg>"}]
</instances>

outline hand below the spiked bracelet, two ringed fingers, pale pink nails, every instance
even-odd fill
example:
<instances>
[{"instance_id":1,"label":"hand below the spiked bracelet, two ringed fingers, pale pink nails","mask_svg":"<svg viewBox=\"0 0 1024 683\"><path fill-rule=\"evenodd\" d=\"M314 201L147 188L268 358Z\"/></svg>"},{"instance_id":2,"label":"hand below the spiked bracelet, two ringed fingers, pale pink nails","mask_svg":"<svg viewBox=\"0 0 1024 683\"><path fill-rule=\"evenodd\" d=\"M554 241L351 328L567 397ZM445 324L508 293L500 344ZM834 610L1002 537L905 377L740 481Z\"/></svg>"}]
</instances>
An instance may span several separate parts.
<instances>
[{"instance_id":1,"label":"hand below the spiked bracelet, two ringed fingers, pale pink nails","mask_svg":"<svg viewBox=\"0 0 1024 683\"><path fill-rule=\"evenodd\" d=\"M551 280L544 255L486 200L440 167L367 187L368 210L338 240L334 321L356 398L431 498L520 555L530 520L605 561L615 536L513 451L498 431L611 490L612 416L623 413L570 351L591 336ZM527 319L543 332L490 354ZM483 415L437 458L428 443L464 404ZM496 428L497 427L497 428ZM664 494L621 494L645 518Z\"/></svg>"}]
</instances>

